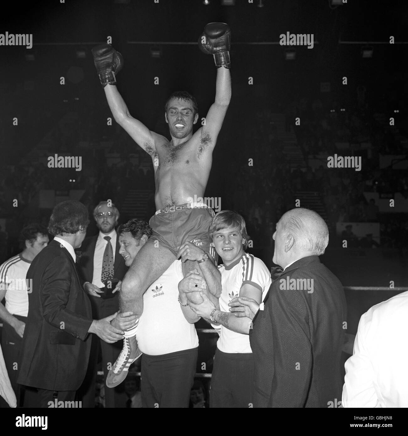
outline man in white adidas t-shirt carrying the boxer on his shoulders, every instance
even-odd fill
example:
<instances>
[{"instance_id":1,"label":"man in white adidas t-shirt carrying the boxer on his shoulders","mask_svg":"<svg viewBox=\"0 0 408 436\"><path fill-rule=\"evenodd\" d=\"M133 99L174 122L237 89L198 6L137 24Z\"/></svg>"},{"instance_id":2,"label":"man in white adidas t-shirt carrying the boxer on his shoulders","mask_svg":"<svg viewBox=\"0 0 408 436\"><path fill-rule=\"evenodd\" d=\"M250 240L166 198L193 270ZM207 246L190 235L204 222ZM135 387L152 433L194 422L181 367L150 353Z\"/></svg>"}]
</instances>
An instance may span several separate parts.
<instances>
[{"instance_id":1,"label":"man in white adidas t-shirt carrying the boxer on his shoulders","mask_svg":"<svg viewBox=\"0 0 408 436\"><path fill-rule=\"evenodd\" d=\"M118 228L119 253L127 266L131 265L151 233L147 222L139 219L131 219ZM189 247L186 249L190 251L196 248L191 243L183 246ZM144 310L136 330L137 343L143 353L143 407L189 407L199 345L194 323L199 317L186 303L185 293L180 291L179 295L178 283L183 279L182 260L183 257L175 260L143 295ZM210 261L205 263L211 264ZM203 275L205 277L205 273ZM187 282L193 283L192 279ZM194 289L197 292L198 286ZM127 338L125 351L126 341ZM122 354L119 360L123 358Z\"/></svg>"}]
</instances>

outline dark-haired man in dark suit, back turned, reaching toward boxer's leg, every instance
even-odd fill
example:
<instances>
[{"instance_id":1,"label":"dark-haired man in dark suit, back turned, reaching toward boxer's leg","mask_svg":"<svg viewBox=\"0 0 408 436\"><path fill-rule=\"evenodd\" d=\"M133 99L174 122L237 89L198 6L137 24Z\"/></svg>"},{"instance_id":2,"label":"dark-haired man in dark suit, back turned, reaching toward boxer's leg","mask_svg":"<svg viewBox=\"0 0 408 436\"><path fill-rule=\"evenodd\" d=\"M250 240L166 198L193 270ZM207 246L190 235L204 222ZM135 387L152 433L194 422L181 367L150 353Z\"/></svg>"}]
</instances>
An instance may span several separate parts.
<instances>
[{"instance_id":1,"label":"dark-haired man in dark suit, back turned, reaching toward boxer's leg","mask_svg":"<svg viewBox=\"0 0 408 436\"><path fill-rule=\"evenodd\" d=\"M55 238L27 272L31 293L17 382L37 388L36 407L48 407L55 398L75 399L88 366L88 333L109 343L123 338L123 330L110 324L116 313L92 319L89 298L75 269L74 249L85 238L88 224L88 211L79 201L57 204L48 225Z\"/></svg>"}]
</instances>

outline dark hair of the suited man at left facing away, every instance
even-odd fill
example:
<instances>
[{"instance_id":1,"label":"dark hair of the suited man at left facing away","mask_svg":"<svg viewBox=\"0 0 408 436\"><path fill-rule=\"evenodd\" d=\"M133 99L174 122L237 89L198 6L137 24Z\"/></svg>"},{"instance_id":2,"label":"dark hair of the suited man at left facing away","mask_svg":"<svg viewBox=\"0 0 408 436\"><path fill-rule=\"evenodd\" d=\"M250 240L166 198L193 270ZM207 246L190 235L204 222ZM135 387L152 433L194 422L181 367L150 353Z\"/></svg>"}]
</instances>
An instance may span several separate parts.
<instances>
[{"instance_id":1,"label":"dark hair of the suited man at left facing away","mask_svg":"<svg viewBox=\"0 0 408 436\"><path fill-rule=\"evenodd\" d=\"M54 236L64 233L72 235L78 232L80 227L86 230L88 224L88 210L80 201L62 201L52 210L48 232Z\"/></svg>"}]
</instances>

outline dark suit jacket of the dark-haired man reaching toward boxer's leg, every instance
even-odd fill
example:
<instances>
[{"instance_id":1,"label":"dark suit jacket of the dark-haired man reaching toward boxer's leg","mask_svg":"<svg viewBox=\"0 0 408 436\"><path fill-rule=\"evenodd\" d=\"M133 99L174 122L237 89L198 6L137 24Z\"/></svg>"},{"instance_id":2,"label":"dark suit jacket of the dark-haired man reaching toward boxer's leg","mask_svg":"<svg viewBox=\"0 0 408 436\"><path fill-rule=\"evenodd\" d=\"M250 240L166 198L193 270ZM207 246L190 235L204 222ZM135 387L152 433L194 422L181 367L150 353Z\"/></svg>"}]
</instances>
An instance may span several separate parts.
<instances>
[{"instance_id":1,"label":"dark suit jacket of the dark-haired man reaching toward boxer's leg","mask_svg":"<svg viewBox=\"0 0 408 436\"><path fill-rule=\"evenodd\" d=\"M32 292L17 382L51 391L76 391L88 366L92 316L72 256L51 241L34 258L27 279L32 280Z\"/></svg>"}]
</instances>

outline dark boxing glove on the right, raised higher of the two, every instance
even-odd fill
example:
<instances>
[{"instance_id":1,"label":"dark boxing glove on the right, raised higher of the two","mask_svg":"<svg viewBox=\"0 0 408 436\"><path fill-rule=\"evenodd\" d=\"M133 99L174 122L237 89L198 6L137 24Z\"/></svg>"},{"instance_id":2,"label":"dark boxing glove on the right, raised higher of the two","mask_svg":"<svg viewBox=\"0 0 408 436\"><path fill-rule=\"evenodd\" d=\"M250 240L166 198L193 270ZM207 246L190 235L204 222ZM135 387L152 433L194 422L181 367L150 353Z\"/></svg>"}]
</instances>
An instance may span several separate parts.
<instances>
[{"instance_id":1,"label":"dark boxing glove on the right, raised higher of the two","mask_svg":"<svg viewBox=\"0 0 408 436\"><path fill-rule=\"evenodd\" d=\"M213 54L217 68L231 68L231 29L225 23L209 23L199 37L199 48L205 54Z\"/></svg>"}]
</instances>

